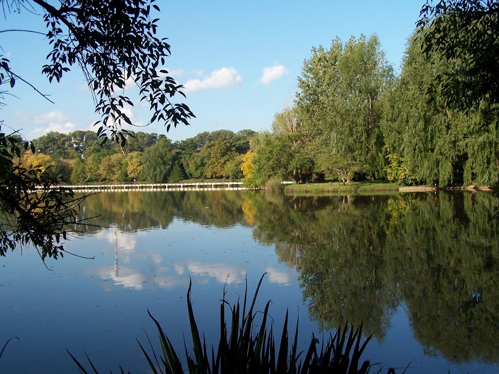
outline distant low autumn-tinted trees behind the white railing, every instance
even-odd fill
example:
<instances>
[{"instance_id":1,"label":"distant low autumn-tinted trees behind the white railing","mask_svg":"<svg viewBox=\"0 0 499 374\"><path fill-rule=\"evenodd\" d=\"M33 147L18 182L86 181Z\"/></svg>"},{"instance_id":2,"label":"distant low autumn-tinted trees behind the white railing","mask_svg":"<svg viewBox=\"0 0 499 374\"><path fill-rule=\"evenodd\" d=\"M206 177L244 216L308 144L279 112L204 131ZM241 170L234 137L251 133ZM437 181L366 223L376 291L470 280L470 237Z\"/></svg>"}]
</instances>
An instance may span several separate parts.
<instances>
[{"instance_id":1,"label":"distant low autumn-tinted trees behind the white railing","mask_svg":"<svg viewBox=\"0 0 499 374\"><path fill-rule=\"evenodd\" d=\"M49 132L33 139L35 152L20 159L28 168L53 173L67 183L179 182L196 179L240 179L243 155L252 130L203 132L172 142L165 135L132 132L126 143L105 142L94 131Z\"/></svg>"}]
</instances>

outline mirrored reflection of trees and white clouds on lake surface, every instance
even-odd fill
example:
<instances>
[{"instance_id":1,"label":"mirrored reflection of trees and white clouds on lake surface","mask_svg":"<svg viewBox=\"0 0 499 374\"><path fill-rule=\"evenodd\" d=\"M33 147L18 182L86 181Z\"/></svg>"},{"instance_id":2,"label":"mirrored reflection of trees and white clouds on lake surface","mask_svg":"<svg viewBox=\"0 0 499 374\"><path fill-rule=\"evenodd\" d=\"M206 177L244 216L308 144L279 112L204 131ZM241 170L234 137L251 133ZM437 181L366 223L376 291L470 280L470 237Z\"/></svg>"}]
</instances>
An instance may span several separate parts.
<instances>
[{"instance_id":1,"label":"mirrored reflection of trees and white clouds on lake surface","mask_svg":"<svg viewBox=\"0 0 499 374\"><path fill-rule=\"evenodd\" d=\"M98 223L110 228L83 231L106 238L117 254L96 275L144 290L175 288L186 273L200 283L241 284L248 268L234 253L237 235L207 249L213 261L188 254L174 260L155 248L138 248L141 230L175 222L218 230L250 226L254 240L272 245L289 268L265 266L269 282L288 286L296 269L302 301L322 329L363 322L366 333L383 341L403 306L428 355L498 363L496 203L485 193L313 198L236 191L101 193L85 202L84 215L98 215ZM185 234L179 253L189 251ZM206 240L196 244L211 245Z\"/></svg>"}]
</instances>

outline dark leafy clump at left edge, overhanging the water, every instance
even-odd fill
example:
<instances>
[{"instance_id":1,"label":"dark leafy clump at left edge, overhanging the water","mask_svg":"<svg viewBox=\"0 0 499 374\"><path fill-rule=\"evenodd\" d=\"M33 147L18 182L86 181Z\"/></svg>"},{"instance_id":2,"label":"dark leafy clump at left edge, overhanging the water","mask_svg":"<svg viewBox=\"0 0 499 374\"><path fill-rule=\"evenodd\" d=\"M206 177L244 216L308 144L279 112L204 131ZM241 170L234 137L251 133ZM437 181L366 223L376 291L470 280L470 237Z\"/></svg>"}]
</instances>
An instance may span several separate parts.
<instances>
[{"instance_id":1,"label":"dark leafy clump at left edge, overhanging the water","mask_svg":"<svg viewBox=\"0 0 499 374\"><path fill-rule=\"evenodd\" d=\"M71 225L77 223L83 197L75 198L72 190L49 188L61 180L52 167L42 172L19 164L21 152L28 149L33 151L34 146L19 144L17 138L1 133L0 127L0 256L18 244L31 244L42 260L57 259L64 253L68 233L74 231ZM36 186L44 188L34 192Z\"/></svg>"}]
</instances>

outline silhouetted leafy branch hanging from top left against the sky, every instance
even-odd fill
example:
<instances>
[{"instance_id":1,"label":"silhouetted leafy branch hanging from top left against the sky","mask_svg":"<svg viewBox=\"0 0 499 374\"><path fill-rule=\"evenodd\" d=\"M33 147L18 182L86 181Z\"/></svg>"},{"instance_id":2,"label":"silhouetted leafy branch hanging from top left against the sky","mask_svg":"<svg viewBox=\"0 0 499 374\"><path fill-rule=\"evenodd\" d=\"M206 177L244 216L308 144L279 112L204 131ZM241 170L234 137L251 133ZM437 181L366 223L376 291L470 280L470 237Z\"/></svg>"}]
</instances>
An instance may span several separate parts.
<instances>
[{"instance_id":1,"label":"silhouetted leafy branch hanging from top left against the sky","mask_svg":"<svg viewBox=\"0 0 499 374\"><path fill-rule=\"evenodd\" d=\"M83 71L94 96L95 111L102 118L99 136L125 140L126 132L121 127L132 125L125 106L133 106L133 101L119 92L127 79L140 88L140 100L149 103L149 123L164 122L168 131L172 124L188 125L194 117L187 105L171 101L177 94L185 95L180 91L182 86L161 69L170 55L170 45L166 38L156 37L159 18L151 19L153 12L159 11L155 0L61 0L58 8L43 0L1 3L4 12L29 8L43 12L46 36L53 49L42 73L50 82L59 82L74 66ZM18 80L24 82L1 55L0 78L0 84L8 81L11 87Z\"/></svg>"}]
</instances>

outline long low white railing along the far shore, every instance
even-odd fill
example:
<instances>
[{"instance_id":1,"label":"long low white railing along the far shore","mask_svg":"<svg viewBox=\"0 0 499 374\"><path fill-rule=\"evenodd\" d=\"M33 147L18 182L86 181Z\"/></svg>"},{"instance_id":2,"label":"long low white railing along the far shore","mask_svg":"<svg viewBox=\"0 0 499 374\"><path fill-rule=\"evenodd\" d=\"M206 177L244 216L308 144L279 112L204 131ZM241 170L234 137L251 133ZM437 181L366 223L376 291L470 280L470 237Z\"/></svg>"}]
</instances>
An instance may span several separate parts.
<instances>
[{"instance_id":1,"label":"long low white railing along the far shore","mask_svg":"<svg viewBox=\"0 0 499 374\"><path fill-rule=\"evenodd\" d=\"M292 182L282 182L290 184ZM34 191L41 191L45 187L37 186ZM243 182L194 182L194 183L151 183L151 184L119 184L119 185L68 185L68 186L50 186L49 188L71 188L75 191L152 191L152 190L214 190L214 189L252 189L243 187Z\"/></svg>"}]
</instances>

